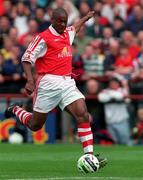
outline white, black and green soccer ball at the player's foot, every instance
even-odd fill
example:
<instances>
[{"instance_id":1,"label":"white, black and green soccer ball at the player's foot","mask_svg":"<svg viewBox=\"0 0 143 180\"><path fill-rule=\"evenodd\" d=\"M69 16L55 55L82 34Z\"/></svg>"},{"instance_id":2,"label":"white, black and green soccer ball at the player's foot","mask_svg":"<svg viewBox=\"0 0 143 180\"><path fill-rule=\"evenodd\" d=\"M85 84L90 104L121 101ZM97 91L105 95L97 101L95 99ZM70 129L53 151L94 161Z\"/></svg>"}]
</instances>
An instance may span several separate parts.
<instances>
[{"instance_id":1,"label":"white, black and green soccer ball at the player's foot","mask_svg":"<svg viewBox=\"0 0 143 180\"><path fill-rule=\"evenodd\" d=\"M77 168L82 173L93 173L99 169L99 161L92 154L85 154L77 161Z\"/></svg>"}]
</instances>

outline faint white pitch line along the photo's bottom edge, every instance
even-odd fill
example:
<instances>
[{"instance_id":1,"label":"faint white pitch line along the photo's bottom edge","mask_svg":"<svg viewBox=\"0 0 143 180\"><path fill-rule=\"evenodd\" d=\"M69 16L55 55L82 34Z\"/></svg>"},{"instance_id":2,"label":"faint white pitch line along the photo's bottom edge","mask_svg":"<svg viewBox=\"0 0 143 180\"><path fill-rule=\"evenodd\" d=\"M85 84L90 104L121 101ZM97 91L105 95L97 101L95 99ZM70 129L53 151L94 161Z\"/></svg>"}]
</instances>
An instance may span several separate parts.
<instances>
[{"instance_id":1,"label":"faint white pitch line along the photo's bottom edge","mask_svg":"<svg viewBox=\"0 0 143 180\"><path fill-rule=\"evenodd\" d=\"M26 179L7 179L7 180L143 180L143 177L47 177L47 178L26 178Z\"/></svg>"}]
</instances>

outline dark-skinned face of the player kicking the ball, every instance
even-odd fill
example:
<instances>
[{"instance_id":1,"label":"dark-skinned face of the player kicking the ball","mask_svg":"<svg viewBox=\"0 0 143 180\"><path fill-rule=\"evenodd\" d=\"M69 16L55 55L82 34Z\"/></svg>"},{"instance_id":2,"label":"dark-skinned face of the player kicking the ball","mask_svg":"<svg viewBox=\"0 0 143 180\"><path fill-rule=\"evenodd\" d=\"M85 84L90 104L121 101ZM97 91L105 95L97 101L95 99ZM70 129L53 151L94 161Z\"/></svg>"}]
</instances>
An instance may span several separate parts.
<instances>
[{"instance_id":1,"label":"dark-skinned face of the player kicking the ball","mask_svg":"<svg viewBox=\"0 0 143 180\"><path fill-rule=\"evenodd\" d=\"M59 34L62 34L66 29L67 20L68 17L66 15L60 15L57 19L52 20L52 26Z\"/></svg>"}]
</instances>

